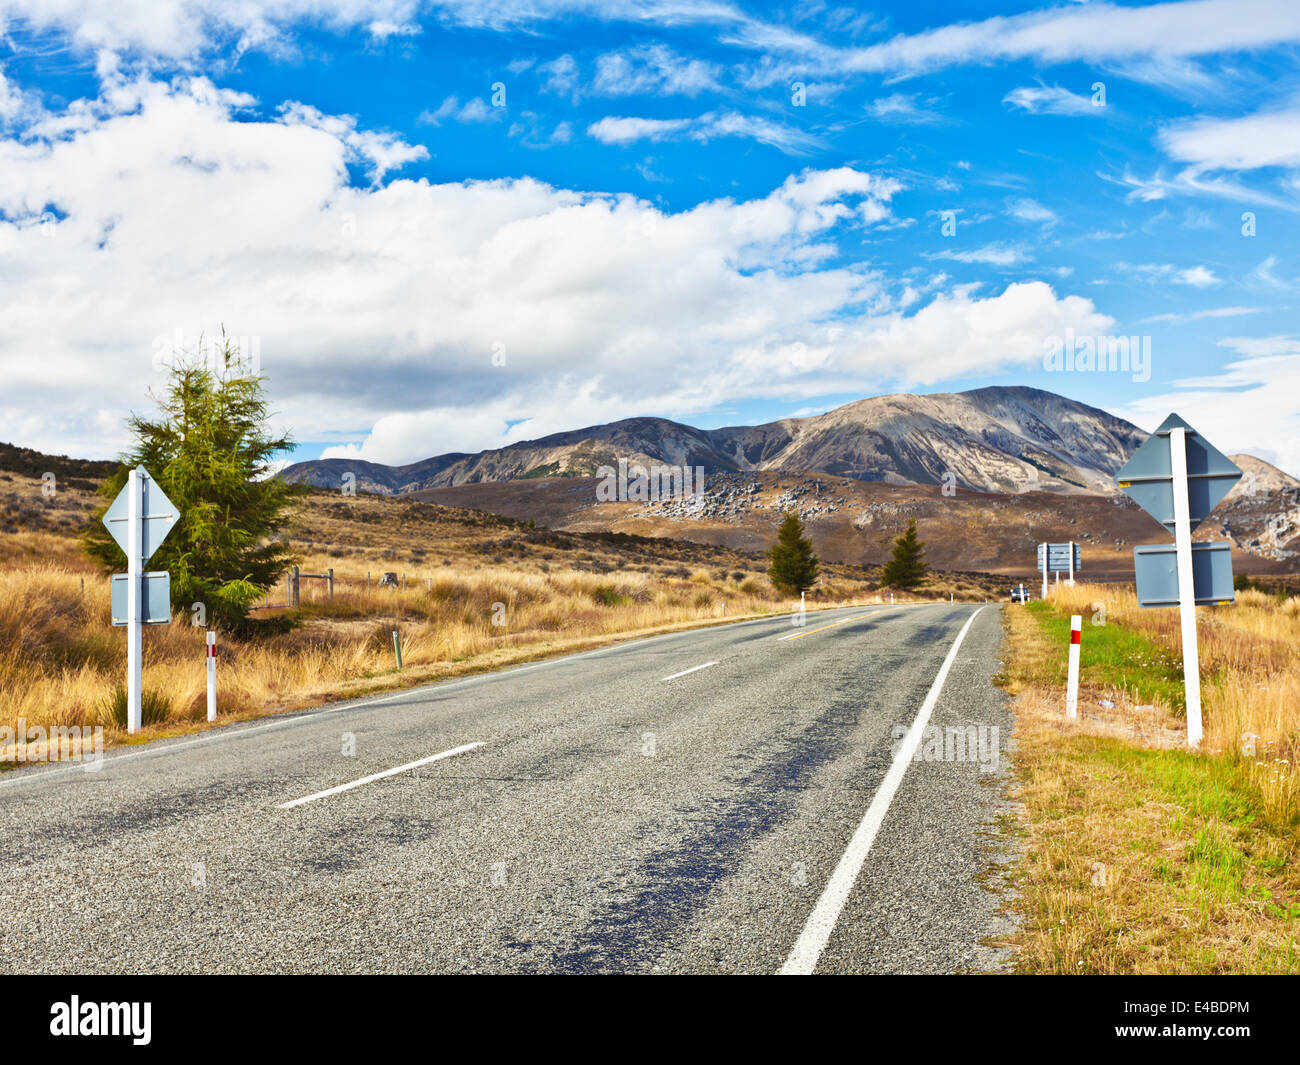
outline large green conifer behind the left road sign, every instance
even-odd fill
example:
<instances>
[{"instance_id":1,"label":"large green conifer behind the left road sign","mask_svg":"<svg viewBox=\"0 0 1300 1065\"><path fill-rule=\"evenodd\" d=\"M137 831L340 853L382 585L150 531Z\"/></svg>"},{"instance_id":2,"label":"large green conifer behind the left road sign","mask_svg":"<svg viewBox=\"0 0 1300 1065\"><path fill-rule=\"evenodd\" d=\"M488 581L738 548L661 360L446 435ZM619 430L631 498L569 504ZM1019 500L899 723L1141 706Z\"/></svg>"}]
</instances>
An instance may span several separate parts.
<instances>
[{"instance_id":1,"label":"large green conifer behind the left road sign","mask_svg":"<svg viewBox=\"0 0 1300 1065\"><path fill-rule=\"evenodd\" d=\"M294 562L280 532L299 489L270 476L270 462L292 440L268 432L263 378L230 341L216 363L209 365L202 350L182 356L157 397L160 416L130 417L135 443L100 488L105 503L82 542L105 570L124 567L101 519L127 471L143 466L181 512L150 559L151 570L172 573L172 609L202 602L212 622L240 628L252 602Z\"/></svg>"}]
</instances>

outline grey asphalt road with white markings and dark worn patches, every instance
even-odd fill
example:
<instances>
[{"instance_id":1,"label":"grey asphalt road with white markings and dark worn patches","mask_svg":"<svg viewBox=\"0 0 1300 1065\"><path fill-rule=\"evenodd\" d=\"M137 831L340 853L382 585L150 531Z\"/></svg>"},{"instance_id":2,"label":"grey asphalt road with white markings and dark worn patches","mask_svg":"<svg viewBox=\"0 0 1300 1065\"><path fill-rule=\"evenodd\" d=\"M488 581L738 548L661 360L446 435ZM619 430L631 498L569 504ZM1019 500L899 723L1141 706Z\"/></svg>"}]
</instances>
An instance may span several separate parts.
<instances>
[{"instance_id":1,"label":"grey asphalt road with white markings and dark worn patches","mask_svg":"<svg viewBox=\"0 0 1300 1065\"><path fill-rule=\"evenodd\" d=\"M993 969L1000 642L746 622L13 772L0 971Z\"/></svg>"}]
</instances>

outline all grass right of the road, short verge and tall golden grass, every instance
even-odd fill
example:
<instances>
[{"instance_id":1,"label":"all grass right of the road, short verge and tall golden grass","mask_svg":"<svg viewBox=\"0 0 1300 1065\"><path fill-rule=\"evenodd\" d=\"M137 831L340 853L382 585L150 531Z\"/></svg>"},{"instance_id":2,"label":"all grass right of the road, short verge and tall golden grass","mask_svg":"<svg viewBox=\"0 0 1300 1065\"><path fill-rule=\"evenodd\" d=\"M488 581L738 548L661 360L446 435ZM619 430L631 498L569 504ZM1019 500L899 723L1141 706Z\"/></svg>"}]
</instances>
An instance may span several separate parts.
<instances>
[{"instance_id":1,"label":"all grass right of the road, short verge and tall golden grass","mask_svg":"<svg viewBox=\"0 0 1300 1065\"><path fill-rule=\"evenodd\" d=\"M1150 694L1167 690L1171 667L1180 679L1175 610L1143 611L1131 589L1078 585L1061 589L1060 614L1005 611L1023 811L1020 971L1300 971L1294 602L1245 593L1236 607L1201 611L1201 752L1186 749L1175 701ZM1070 722L1056 625L1098 605L1108 632L1086 622L1084 648L1135 649L1143 663L1128 692L1105 683L1112 659L1084 668ZM1174 653L1157 653L1162 645ZM1101 709L1102 697L1117 706ZM1243 753L1243 733L1260 737L1256 756Z\"/></svg>"}]
</instances>

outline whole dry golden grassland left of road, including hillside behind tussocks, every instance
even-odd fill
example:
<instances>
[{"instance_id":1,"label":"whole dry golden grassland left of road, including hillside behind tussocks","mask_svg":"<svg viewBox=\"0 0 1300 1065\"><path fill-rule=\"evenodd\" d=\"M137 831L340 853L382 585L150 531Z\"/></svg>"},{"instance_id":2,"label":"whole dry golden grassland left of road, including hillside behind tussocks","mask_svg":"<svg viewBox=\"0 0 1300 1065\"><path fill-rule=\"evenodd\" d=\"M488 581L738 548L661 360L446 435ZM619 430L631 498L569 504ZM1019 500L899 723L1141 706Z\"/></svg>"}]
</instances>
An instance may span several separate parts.
<instances>
[{"instance_id":1,"label":"whole dry golden grassland left of road, including hillside behind tussocks","mask_svg":"<svg viewBox=\"0 0 1300 1065\"><path fill-rule=\"evenodd\" d=\"M291 631L218 637L222 722L790 607L762 560L720 547L338 497L308 498L290 532L304 572L334 567L335 596L304 579ZM0 726L101 724L108 744L126 741L108 709L126 645L109 624L105 576L60 528L10 532L0 550ZM384 571L404 573L406 588L377 588ZM283 585L269 594L273 606L285 598ZM878 601L852 567L831 567L809 596L810 609ZM144 689L166 715L140 739L207 727L204 629L188 620L144 629ZM0 750L0 765L13 754Z\"/></svg>"}]
</instances>

